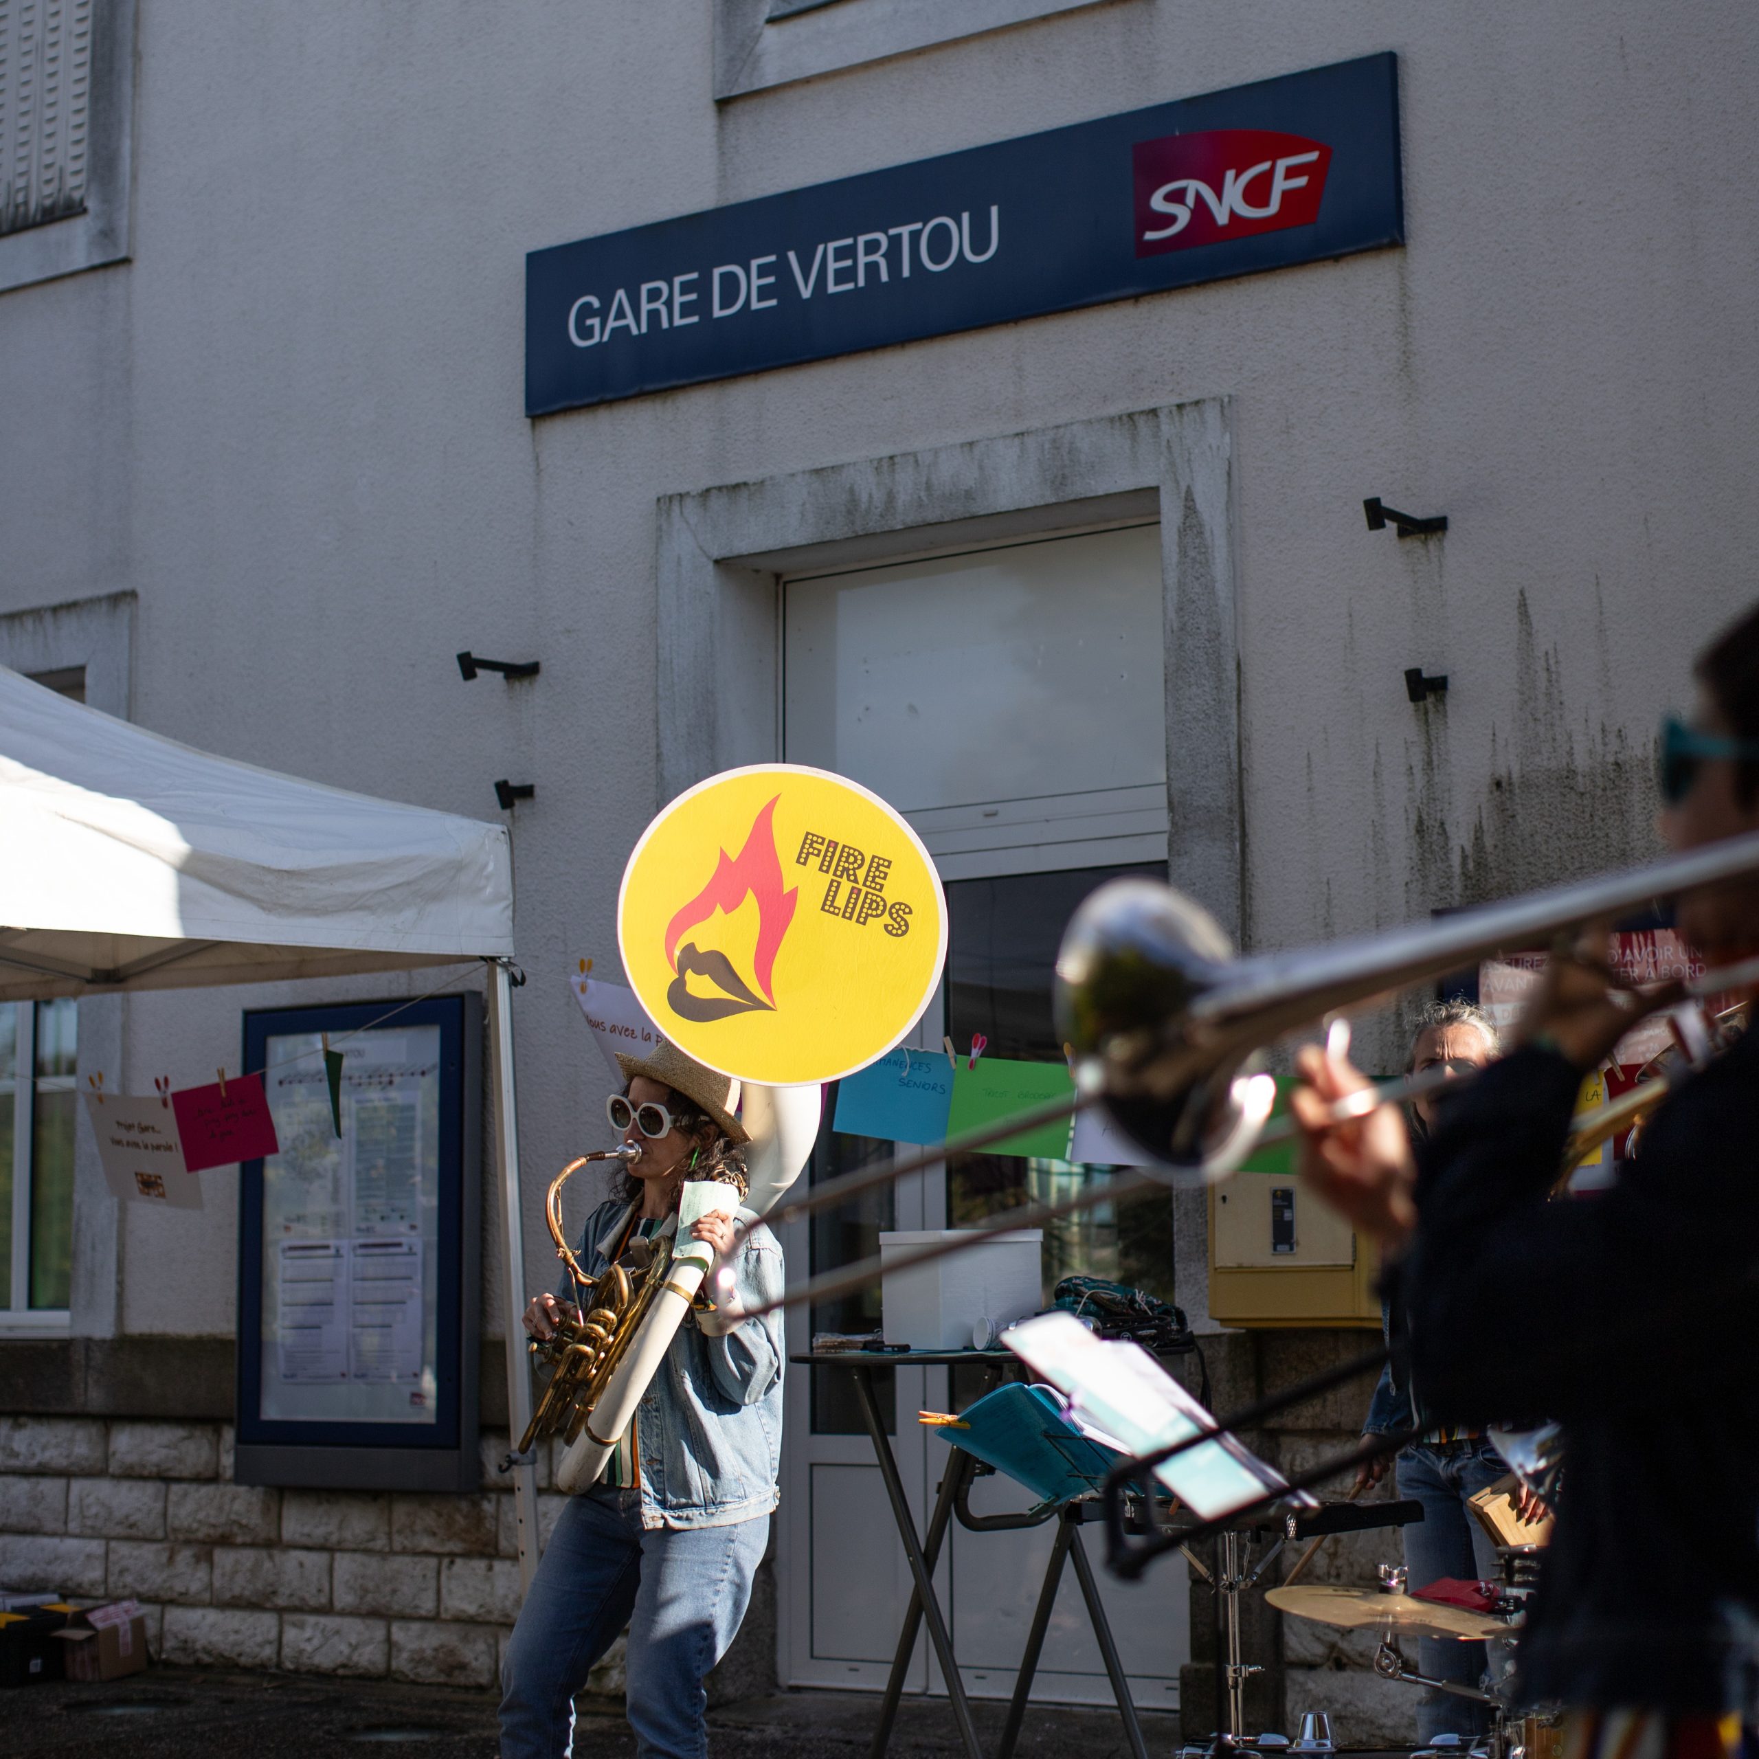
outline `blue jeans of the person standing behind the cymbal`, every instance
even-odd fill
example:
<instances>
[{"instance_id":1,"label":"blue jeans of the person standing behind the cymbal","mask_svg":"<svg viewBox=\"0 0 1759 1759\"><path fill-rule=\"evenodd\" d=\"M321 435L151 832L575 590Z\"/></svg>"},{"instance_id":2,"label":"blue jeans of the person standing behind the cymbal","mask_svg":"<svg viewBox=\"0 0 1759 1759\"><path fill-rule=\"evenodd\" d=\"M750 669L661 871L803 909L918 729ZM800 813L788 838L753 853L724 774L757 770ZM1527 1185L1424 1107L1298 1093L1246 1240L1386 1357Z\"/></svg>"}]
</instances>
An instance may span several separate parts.
<instances>
[{"instance_id":1,"label":"blue jeans of the person standing behind the cymbal","mask_svg":"<svg viewBox=\"0 0 1759 1759\"><path fill-rule=\"evenodd\" d=\"M1463 1581L1497 1580L1497 1548L1465 1500L1507 1471L1502 1455L1483 1439L1412 1442L1398 1455L1398 1495L1423 1504L1423 1520L1402 1529L1409 1592L1427 1588L1442 1576ZM1495 1648L1502 1650L1504 1645L1497 1643ZM1449 1638L1418 1641L1418 1668L1432 1680L1481 1685L1486 1664L1483 1643L1456 1643ZM1418 1706L1418 1733L1423 1741L1449 1733L1488 1734L1490 1706L1451 1692L1425 1690Z\"/></svg>"}]
</instances>

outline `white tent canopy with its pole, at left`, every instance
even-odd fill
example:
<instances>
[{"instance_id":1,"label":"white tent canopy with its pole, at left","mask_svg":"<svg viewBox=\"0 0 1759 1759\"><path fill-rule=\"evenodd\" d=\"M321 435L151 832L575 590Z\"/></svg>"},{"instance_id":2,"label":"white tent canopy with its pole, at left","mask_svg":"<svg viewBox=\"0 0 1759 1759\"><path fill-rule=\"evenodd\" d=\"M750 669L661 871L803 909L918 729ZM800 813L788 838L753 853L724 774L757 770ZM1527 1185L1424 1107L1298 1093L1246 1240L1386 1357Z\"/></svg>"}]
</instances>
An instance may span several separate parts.
<instances>
[{"instance_id":1,"label":"white tent canopy with its pole, at left","mask_svg":"<svg viewBox=\"0 0 1759 1759\"><path fill-rule=\"evenodd\" d=\"M216 758L0 667L0 1003L485 959L507 1400L531 1411L507 830ZM536 1472L514 1479L536 1564Z\"/></svg>"}]
</instances>

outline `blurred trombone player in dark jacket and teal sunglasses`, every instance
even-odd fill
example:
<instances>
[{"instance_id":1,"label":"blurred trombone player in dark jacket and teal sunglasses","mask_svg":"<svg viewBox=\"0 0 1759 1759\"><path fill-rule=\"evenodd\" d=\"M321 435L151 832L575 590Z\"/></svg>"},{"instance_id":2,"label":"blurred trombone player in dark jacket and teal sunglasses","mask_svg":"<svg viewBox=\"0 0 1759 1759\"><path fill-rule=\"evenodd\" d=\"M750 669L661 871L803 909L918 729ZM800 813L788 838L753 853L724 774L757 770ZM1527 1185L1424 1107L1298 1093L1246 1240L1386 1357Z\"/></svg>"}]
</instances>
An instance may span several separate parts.
<instances>
[{"instance_id":1,"label":"blurred trombone player in dark jacket and teal sunglasses","mask_svg":"<svg viewBox=\"0 0 1759 1759\"><path fill-rule=\"evenodd\" d=\"M1659 749L1673 850L1759 830L1759 609L1696 675L1692 719ZM1710 967L1750 959L1759 881L1683 895L1676 925ZM1393 1254L1428 1405L1564 1425L1567 1493L1516 1683L1571 1706L1571 1759L1731 1752L1759 1673L1759 1033L1669 1094L1608 1189L1546 1201L1583 1075L1678 999L1632 1006L1604 932L1585 934L1414 1156L1384 1106L1330 1122L1365 1085L1344 1057L1302 1052L1291 1099L1310 1189Z\"/></svg>"}]
</instances>

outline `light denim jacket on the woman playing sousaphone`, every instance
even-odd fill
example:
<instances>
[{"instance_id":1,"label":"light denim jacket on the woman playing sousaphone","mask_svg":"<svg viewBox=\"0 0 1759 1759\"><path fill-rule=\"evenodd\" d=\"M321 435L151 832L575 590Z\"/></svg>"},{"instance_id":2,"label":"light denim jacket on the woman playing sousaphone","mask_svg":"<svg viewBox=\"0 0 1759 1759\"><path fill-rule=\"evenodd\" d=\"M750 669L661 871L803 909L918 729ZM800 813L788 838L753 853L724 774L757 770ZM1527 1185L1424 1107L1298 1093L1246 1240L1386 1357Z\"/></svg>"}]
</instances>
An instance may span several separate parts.
<instances>
[{"instance_id":1,"label":"light denim jacket on the woman playing sousaphone","mask_svg":"<svg viewBox=\"0 0 1759 1759\"><path fill-rule=\"evenodd\" d=\"M610 1198L586 1219L580 1268L600 1277L628 1226L631 1203ZM783 1291L781 1245L753 1228L734 1259L739 1307ZM642 1527L730 1527L769 1514L781 1471L779 1312L730 1328L714 1314L684 1316L635 1418Z\"/></svg>"}]
</instances>

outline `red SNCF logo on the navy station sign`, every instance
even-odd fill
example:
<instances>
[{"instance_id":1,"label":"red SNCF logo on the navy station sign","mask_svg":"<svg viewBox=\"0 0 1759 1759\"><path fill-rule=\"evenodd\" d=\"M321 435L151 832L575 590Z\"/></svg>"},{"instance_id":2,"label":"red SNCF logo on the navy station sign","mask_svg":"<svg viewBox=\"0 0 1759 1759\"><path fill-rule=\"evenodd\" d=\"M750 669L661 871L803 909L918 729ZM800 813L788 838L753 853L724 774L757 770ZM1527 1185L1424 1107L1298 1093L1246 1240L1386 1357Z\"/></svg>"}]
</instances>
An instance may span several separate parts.
<instances>
[{"instance_id":1,"label":"red SNCF logo on the navy station sign","mask_svg":"<svg viewBox=\"0 0 1759 1759\"><path fill-rule=\"evenodd\" d=\"M1332 148L1298 134L1214 128L1131 148L1136 255L1312 225Z\"/></svg>"}]
</instances>

